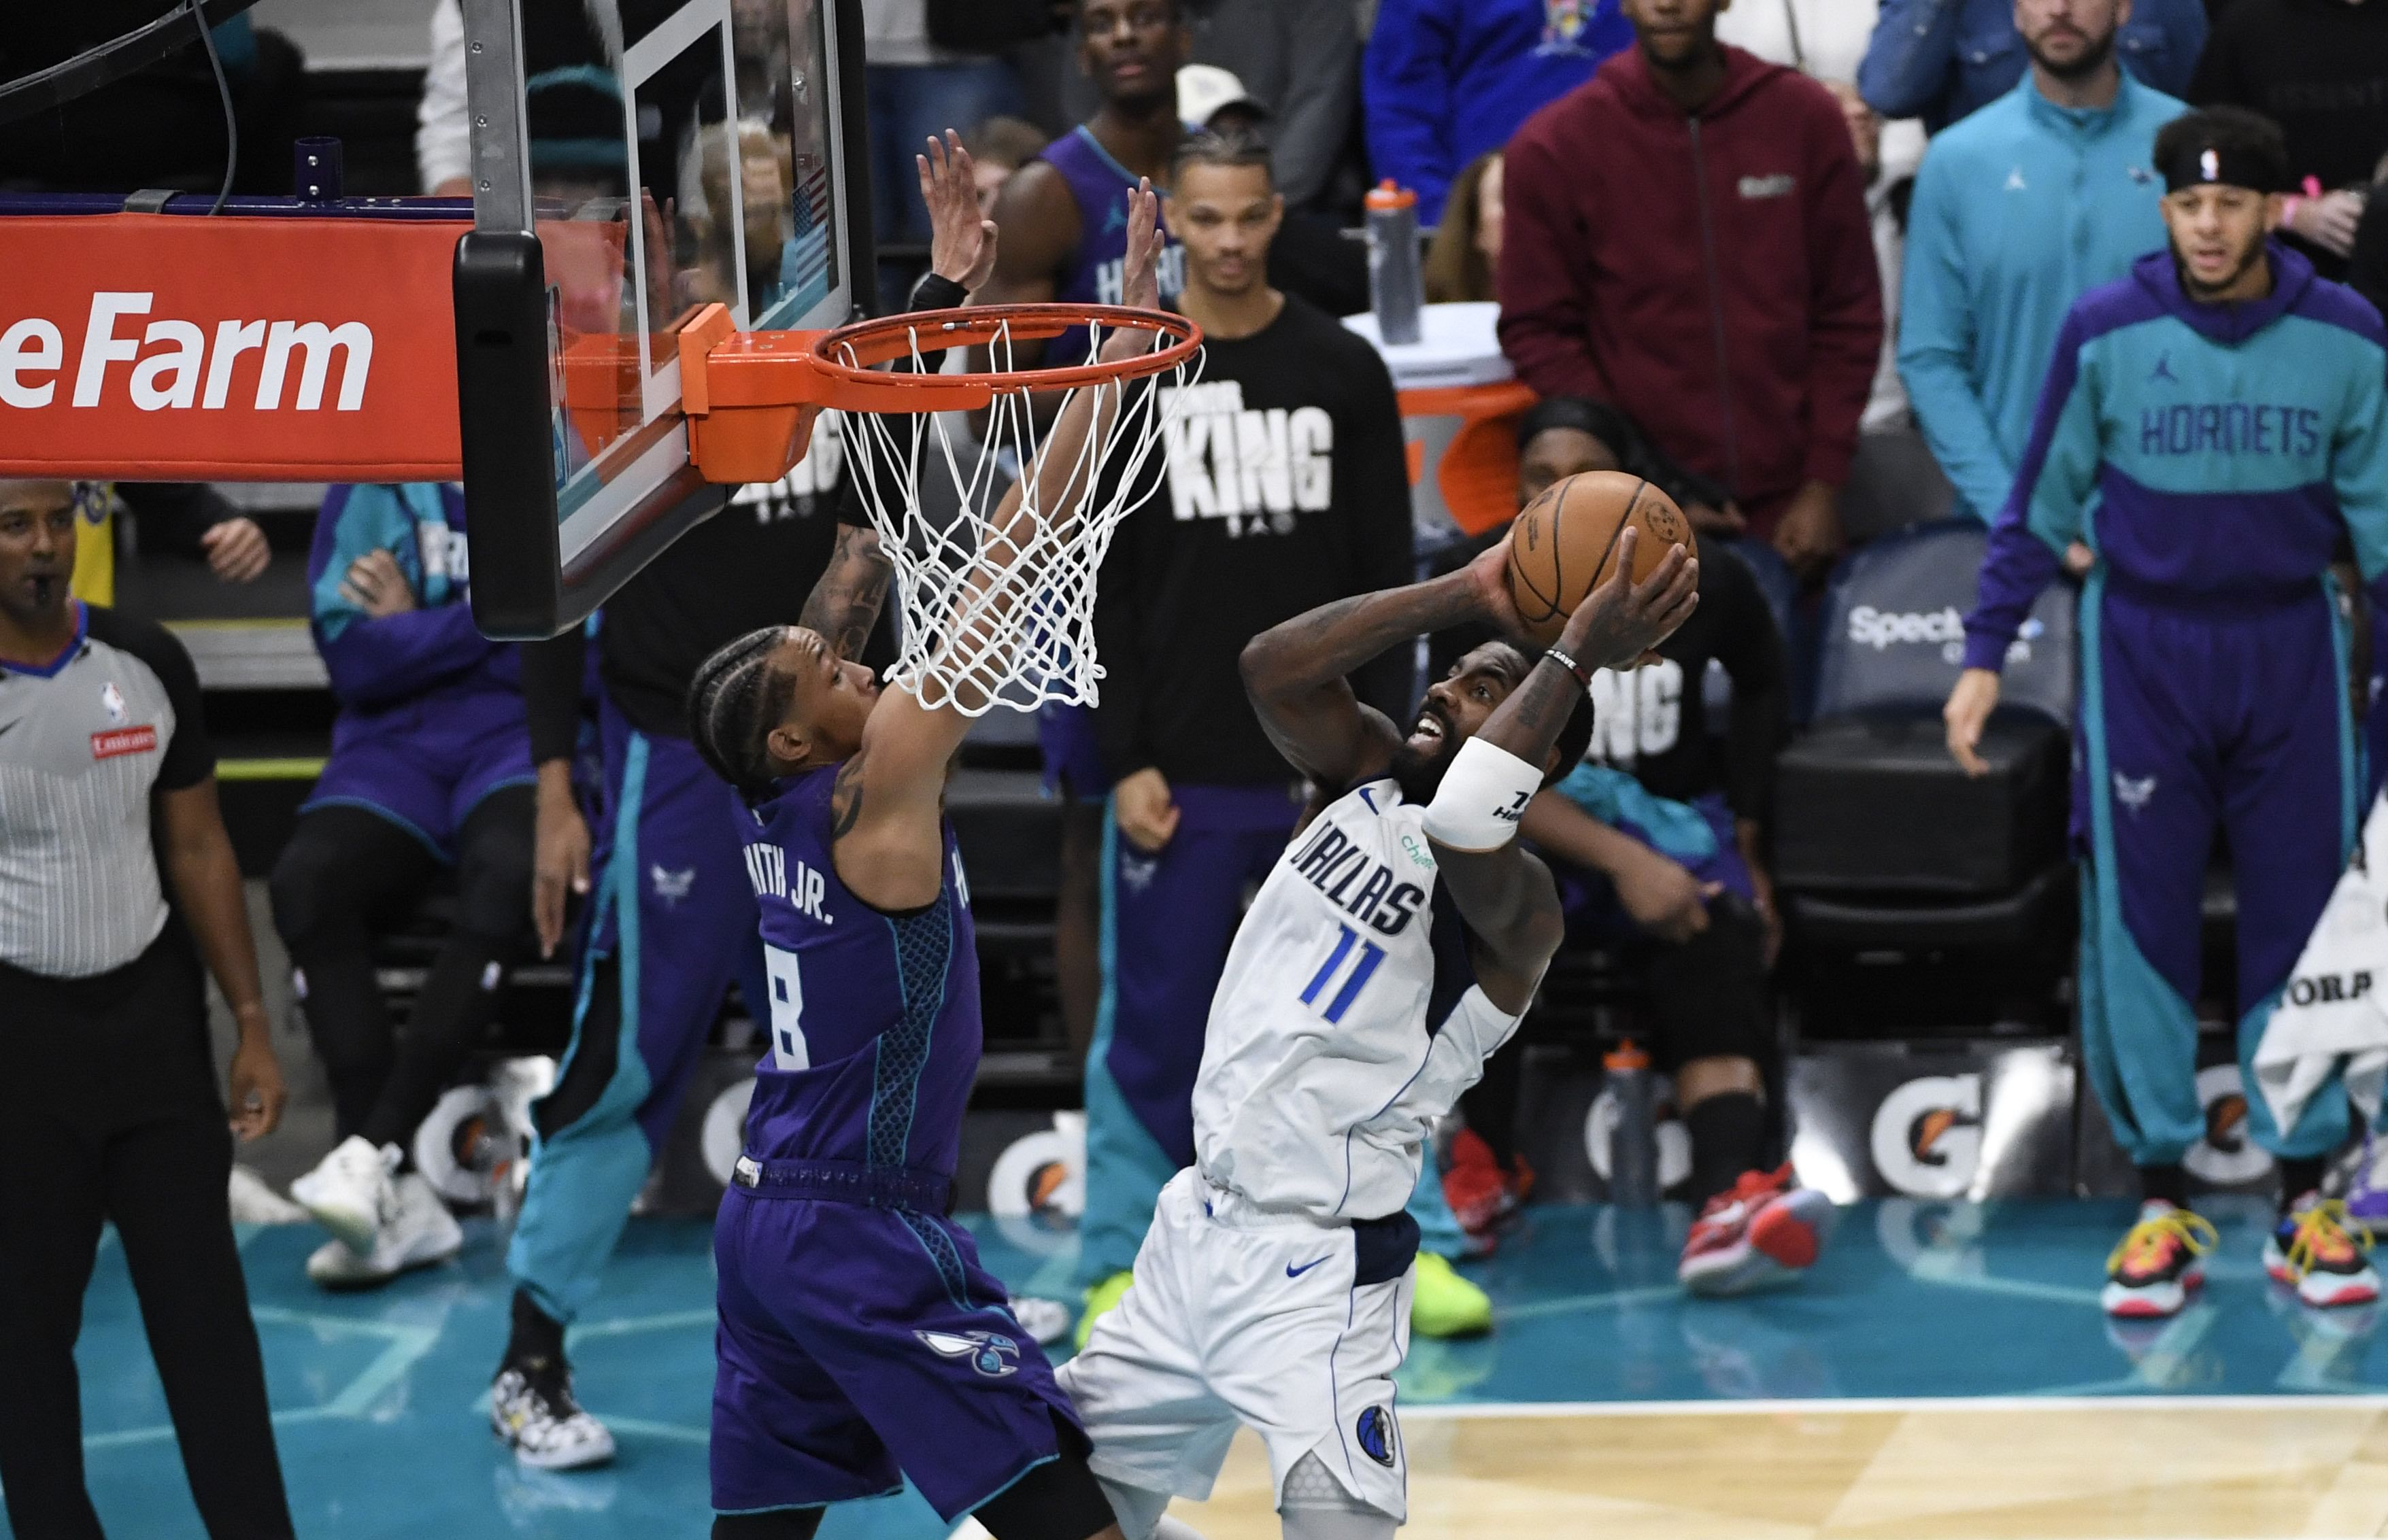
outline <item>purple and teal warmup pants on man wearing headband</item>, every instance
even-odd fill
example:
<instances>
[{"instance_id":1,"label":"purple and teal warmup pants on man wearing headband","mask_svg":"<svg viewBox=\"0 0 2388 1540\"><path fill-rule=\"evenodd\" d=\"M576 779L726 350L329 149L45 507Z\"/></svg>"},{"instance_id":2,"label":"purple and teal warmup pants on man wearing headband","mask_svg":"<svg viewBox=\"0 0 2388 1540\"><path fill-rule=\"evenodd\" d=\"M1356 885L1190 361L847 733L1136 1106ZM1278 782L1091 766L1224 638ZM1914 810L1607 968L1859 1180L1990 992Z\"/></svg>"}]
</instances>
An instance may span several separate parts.
<instances>
[{"instance_id":1,"label":"purple and teal warmup pants on man wearing headband","mask_svg":"<svg viewBox=\"0 0 2388 1540\"><path fill-rule=\"evenodd\" d=\"M2204 1134L2195 1000L2216 831L2238 881L2242 1074L2355 848L2347 640L2328 583L2216 614L2099 571L2080 614L2082 1055L2132 1163L2171 1165ZM2247 1074L2247 1120L2273 1156L2324 1156L2347 1136L2347 1098L2326 1086L2281 1129Z\"/></svg>"}]
</instances>

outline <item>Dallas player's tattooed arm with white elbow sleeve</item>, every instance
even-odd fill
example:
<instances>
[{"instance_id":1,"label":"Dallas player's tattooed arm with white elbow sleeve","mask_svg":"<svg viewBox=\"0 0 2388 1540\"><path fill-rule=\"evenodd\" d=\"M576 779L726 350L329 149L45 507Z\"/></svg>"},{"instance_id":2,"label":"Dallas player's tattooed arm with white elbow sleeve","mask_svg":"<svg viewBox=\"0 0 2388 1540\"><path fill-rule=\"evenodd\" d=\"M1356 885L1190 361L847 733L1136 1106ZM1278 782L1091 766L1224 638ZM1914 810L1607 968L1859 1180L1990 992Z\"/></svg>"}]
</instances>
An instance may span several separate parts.
<instances>
[{"instance_id":1,"label":"Dallas player's tattooed arm with white elbow sleeve","mask_svg":"<svg viewBox=\"0 0 2388 1540\"><path fill-rule=\"evenodd\" d=\"M1550 871L1516 845L1526 802L1559 769L1552 762L1559 728L1595 669L1633 666L1700 602L1700 563L1684 547L1667 552L1643 583L1629 580L1638 537L1633 528L1617 537L1617 571L1583 597L1559 645L1459 745L1426 809L1440 881L1490 953L1478 957L1481 984L1502 1010L1526 1008L1564 931Z\"/></svg>"}]
</instances>

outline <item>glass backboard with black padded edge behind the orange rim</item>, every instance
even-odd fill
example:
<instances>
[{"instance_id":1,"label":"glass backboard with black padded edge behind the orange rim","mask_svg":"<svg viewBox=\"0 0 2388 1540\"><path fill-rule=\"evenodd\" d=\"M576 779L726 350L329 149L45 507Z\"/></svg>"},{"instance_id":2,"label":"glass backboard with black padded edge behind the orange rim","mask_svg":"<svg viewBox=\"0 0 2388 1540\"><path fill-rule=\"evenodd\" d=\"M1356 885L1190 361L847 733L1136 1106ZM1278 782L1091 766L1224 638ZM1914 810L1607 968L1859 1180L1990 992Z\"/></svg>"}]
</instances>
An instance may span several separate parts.
<instances>
[{"instance_id":1,"label":"glass backboard with black padded edge behind the orange rim","mask_svg":"<svg viewBox=\"0 0 2388 1540\"><path fill-rule=\"evenodd\" d=\"M554 635L728 487L688 466L678 329L869 301L857 0L463 0L456 351L473 611Z\"/></svg>"}]
</instances>

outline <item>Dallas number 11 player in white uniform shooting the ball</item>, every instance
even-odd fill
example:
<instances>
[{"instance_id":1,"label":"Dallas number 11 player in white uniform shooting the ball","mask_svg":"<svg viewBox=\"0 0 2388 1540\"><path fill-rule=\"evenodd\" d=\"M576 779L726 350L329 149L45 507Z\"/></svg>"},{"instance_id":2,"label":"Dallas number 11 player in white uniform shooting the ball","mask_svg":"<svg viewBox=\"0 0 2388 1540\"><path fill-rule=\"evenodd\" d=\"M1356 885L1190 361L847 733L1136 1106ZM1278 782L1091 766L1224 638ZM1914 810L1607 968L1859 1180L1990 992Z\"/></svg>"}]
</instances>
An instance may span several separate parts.
<instances>
[{"instance_id":1,"label":"Dallas number 11 player in white uniform shooting the ball","mask_svg":"<svg viewBox=\"0 0 2388 1540\"><path fill-rule=\"evenodd\" d=\"M1516 817L1583 754L1590 671L1631 666L1698 602L1681 547L1629 585L1633 540L1557 647L1466 654L1407 738L1347 676L1418 633L1516 635L1507 542L1244 647L1268 735L1333 800L1227 953L1194 1165L1161 1194L1134 1287L1060 1368L1127 1540L1184 1533L1161 1511L1208 1497L1237 1423L1268 1444L1290 1540L1383 1540L1407 1516L1392 1370L1418 1227L1402 1206L1428 1127L1507 1041L1564 929Z\"/></svg>"}]
</instances>

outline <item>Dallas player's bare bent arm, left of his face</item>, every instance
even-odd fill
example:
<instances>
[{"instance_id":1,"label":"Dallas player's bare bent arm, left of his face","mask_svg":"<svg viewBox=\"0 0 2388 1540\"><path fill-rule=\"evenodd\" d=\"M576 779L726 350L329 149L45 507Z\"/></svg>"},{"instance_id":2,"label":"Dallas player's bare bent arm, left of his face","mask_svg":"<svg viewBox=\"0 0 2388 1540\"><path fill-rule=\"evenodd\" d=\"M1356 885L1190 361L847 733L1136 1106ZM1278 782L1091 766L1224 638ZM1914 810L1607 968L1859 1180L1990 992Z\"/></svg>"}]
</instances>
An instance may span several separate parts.
<instances>
[{"instance_id":1,"label":"Dallas player's bare bent arm, left of his face","mask_svg":"<svg viewBox=\"0 0 2388 1540\"><path fill-rule=\"evenodd\" d=\"M1330 793L1385 774L1402 731L1361 704L1352 673L1392 647L1452 626L1483 623L1516 635L1516 606L1502 585L1509 542L1457 573L1321 604L1244 645L1244 690L1270 743Z\"/></svg>"}]
</instances>

